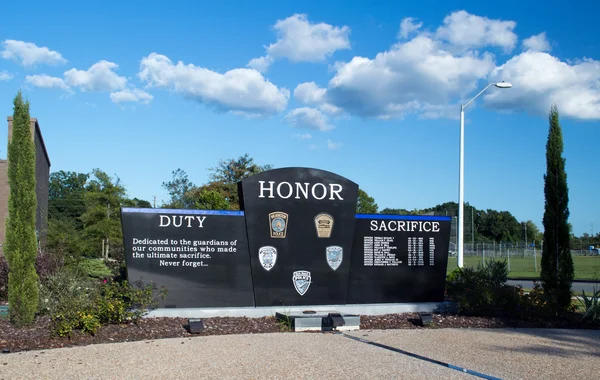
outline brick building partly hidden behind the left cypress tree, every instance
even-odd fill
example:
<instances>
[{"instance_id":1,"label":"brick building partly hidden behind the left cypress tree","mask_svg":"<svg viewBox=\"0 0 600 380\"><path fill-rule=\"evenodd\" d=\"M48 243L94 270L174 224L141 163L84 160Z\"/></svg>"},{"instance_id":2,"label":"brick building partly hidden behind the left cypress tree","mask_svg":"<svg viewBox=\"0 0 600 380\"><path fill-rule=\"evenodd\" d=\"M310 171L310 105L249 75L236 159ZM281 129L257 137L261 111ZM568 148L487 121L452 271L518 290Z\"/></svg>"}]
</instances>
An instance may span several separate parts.
<instances>
[{"instance_id":1,"label":"brick building partly hidden behind the left cypress tree","mask_svg":"<svg viewBox=\"0 0 600 380\"><path fill-rule=\"evenodd\" d=\"M37 210L35 227L40 243L46 242L48 232L48 187L50 181L50 158L46 151L42 131L37 119L31 118L31 136L35 144L35 193ZM12 139L12 116L8 117L8 141ZM8 217L8 160L0 160L0 245L4 244L6 218Z\"/></svg>"}]
</instances>

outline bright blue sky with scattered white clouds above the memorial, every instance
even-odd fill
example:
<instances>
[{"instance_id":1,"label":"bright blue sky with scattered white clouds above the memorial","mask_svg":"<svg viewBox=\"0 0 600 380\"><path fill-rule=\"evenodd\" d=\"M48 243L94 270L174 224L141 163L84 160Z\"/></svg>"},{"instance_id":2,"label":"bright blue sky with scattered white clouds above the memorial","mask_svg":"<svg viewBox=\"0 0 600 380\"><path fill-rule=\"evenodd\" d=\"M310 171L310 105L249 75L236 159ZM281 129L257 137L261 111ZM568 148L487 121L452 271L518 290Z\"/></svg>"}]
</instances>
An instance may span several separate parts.
<instances>
[{"instance_id":1,"label":"bright blue sky with scattered white clouds above the memorial","mask_svg":"<svg viewBox=\"0 0 600 380\"><path fill-rule=\"evenodd\" d=\"M505 80L466 111L466 201L541 226L555 103L570 222L600 230L593 2L57 3L4 4L0 24L0 110L23 90L52 171L100 168L160 203L172 170L202 184L249 153L431 207L458 199L460 104Z\"/></svg>"}]
</instances>

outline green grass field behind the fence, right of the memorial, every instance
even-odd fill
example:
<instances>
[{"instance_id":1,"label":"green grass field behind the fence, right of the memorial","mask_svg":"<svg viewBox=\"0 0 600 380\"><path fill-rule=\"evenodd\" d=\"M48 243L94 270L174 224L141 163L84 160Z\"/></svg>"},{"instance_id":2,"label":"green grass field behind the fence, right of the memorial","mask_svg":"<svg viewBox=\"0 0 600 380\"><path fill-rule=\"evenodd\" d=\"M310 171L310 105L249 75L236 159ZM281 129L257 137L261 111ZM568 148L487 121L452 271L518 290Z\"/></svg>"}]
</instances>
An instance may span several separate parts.
<instances>
[{"instance_id":1,"label":"green grass field behind the fence, right of the memorial","mask_svg":"<svg viewBox=\"0 0 600 380\"><path fill-rule=\"evenodd\" d=\"M482 264L481 256L465 256L464 266L477 267L477 264ZM506 260L506 258L502 258ZM489 258L486 258L489 261ZM529 258L511 258L509 278L539 278L542 264L541 257L537 257L537 273L535 271L535 263L533 257ZM600 280L600 256L573 256L575 264L575 279L576 280ZM456 269L456 257L448 258L448 273Z\"/></svg>"}]
</instances>

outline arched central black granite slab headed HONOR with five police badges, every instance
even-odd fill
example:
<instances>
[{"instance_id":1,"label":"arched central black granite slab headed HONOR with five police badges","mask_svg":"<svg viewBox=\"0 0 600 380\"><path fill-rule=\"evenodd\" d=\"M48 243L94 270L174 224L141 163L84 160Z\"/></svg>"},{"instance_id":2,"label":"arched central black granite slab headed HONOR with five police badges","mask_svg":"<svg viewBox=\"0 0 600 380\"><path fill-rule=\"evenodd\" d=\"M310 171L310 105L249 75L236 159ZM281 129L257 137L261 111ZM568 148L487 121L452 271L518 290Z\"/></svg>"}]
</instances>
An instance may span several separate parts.
<instances>
[{"instance_id":1,"label":"arched central black granite slab headed HONOR with five police badges","mask_svg":"<svg viewBox=\"0 0 600 380\"><path fill-rule=\"evenodd\" d=\"M358 185L306 168L241 182L256 306L346 302Z\"/></svg>"}]
</instances>

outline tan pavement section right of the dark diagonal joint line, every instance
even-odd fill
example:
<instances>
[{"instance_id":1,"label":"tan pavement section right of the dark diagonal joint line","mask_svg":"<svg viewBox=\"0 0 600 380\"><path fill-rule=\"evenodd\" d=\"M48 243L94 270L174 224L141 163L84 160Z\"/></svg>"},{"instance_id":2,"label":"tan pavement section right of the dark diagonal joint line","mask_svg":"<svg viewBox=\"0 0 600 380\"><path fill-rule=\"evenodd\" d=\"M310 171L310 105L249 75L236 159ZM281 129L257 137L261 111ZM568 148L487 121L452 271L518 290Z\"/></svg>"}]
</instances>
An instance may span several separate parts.
<instances>
[{"instance_id":1,"label":"tan pavement section right of the dark diagonal joint line","mask_svg":"<svg viewBox=\"0 0 600 380\"><path fill-rule=\"evenodd\" d=\"M598 330L427 329L348 334L502 379L597 379L600 366Z\"/></svg>"}]
</instances>

